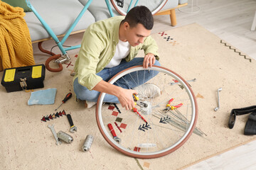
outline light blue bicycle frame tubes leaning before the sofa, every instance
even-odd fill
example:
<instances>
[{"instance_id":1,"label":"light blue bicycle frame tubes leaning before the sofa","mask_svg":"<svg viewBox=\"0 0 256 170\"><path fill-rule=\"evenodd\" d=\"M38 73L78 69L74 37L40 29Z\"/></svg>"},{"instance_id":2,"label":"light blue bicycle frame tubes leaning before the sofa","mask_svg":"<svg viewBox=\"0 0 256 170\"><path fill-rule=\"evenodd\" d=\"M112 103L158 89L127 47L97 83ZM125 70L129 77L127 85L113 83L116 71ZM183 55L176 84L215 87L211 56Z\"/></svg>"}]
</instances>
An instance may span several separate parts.
<instances>
[{"instance_id":1,"label":"light blue bicycle frame tubes leaning before the sofa","mask_svg":"<svg viewBox=\"0 0 256 170\"><path fill-rule=\"evenodd\" d=\"M68 28L67 33L65 33L63 39L60 41L57 37L57 35L55 35L55 33L53 32L53 30L50 28L50 26L48 26L48 23L46 23L46 21L43 20L43 18L39 15L39 13L36 11L36 9L31 5L29 0L26 0L26 4L29 8L31 8L31 11L33 11L33 13L36 15L36 17L38 18L38 20L42 23L43 27L46 29L47 33L53 38L53 40L55 40L56 45L58 45L60 51L63 54L64 59L60 60L55 60L55 62L58 63L64 63L68 60L70 60L70 57L68 57L67 51L68 50L74 50L77 48L80 48L81 45L75 45L75 46L71 46L71 47L63 47L63 44L65 42L65 40L67 40L68 36L70 35L70 33L73 31L73 29L75 28L75 26L78 24L78 21L80 21L80 18L82 18L82 15L85 13L85 11L87 10L87 8L90 6L90 4L92 3L93 0L89 0L87 1L87 4L85 4L85 6L82 8L82 11L80 11L79 15L77 18L75 18L74 23L70 26L70 28ZM110 12L110 16L114 16L114 13L112 11L112 8L110 6L110 2L109 0L105 0L105 3L107 5L107 8Z\"/></svg>"}]
</instances>

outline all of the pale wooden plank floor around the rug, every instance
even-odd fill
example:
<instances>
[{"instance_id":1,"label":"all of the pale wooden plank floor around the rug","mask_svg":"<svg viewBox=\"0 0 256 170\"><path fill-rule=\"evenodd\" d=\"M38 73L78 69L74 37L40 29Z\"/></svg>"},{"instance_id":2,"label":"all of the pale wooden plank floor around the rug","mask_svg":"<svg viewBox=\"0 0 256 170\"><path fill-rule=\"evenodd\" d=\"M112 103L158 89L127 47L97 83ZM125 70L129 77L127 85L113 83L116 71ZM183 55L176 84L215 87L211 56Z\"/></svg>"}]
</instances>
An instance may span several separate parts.
<instances>
[{"instance_id":1,"label":"all of the pale wooden plank floor around the rug","mask_svg":"<svg viewBox=\"0 0 256 170\"><path fill-rule=\"evenodd\" d=\"M188 5L190 4L191 0L188 0ZM181 11L191 11L188 7L190 6L181 8ZM196 13L185 13L177 9L176 27L198 23L256 60L256 31L250 30L256 11L256 0L198 0L198 7L200 11ZM174 28L170 26L169 16L154 16L154 19L152 33ZM81 39L81 33L72 35L65 44L78 45ZM50 49L53 45L53 41L47 41L43 46ZM46 60L46 55L38 51L36 44L33 44L33 50L36 62ZM57 48L53 52L60 53ZM73 53L78 53L78 50L69 52ZM256 141L206 159L187 169L256 169L255 154Z\"/></svg>"}]
</instances>

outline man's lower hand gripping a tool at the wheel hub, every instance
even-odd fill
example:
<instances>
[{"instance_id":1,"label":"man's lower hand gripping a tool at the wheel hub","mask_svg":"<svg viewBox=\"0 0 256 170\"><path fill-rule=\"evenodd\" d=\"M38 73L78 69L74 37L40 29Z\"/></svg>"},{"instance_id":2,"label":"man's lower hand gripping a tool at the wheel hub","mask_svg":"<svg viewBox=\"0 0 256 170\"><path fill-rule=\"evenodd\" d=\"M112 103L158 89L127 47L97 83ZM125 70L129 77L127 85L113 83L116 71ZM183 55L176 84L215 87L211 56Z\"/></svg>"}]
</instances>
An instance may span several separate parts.
<instances>
[{"instance_id":1,"label":"man's lower hand gripping a tool at the wheel hub","mask_svg":"<svg viewBox=\"0 0 256 170\"><path fill-rule=\"evenodd\" d=\"M126 110L132 110L135 107L134 99L132 94L138 94L137 91L130 89L122 89L122 92L117 96L122 107Z\"/></svg>"}]
</instances>

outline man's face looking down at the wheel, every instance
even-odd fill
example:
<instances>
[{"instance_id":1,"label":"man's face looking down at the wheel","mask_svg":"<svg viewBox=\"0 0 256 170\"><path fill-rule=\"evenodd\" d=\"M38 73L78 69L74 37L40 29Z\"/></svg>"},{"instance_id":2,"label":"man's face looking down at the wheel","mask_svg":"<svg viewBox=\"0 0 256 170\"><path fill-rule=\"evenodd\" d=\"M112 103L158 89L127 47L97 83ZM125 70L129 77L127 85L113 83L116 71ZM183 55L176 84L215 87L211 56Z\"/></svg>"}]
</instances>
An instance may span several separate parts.
<instances>
[{"instance_id":1,"label":"man's face looking down at the wheel","mask_svg":"<svg viewBox=\"0 0 256 170\"><path fill-rule=\"evenodd\" d=\"M137 26L131 28L127 23L126 27L126 39L132 47L139 45L144 42L144 38L148 37L151 33L151 30L147 30L141 23L138 23Z\"/></svg>"}]
</instances>

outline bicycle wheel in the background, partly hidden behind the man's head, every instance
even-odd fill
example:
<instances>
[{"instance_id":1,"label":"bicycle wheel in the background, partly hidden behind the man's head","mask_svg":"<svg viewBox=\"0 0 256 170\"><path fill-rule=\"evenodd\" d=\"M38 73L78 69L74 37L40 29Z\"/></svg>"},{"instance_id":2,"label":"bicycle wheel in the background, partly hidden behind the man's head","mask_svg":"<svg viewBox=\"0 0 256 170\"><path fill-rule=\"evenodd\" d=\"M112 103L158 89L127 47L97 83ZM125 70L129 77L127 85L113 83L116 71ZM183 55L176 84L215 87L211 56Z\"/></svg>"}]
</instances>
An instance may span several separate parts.
<instances>
[{"instance_id":1,"label":"bicycle wheel in the background, partly hidden behind the man's head","mask_svg":"<svg viewBox=\"0 0 256 170\"><path fill-rule=\"evenodd\" d=\"M111 3L118 13L122 16L126 16L127 12L134 6L146 6L154 15L164 7L167 1L168 0L123 0L122 2L122 0L111 0Z\"/></svg>"}]
</instances>

